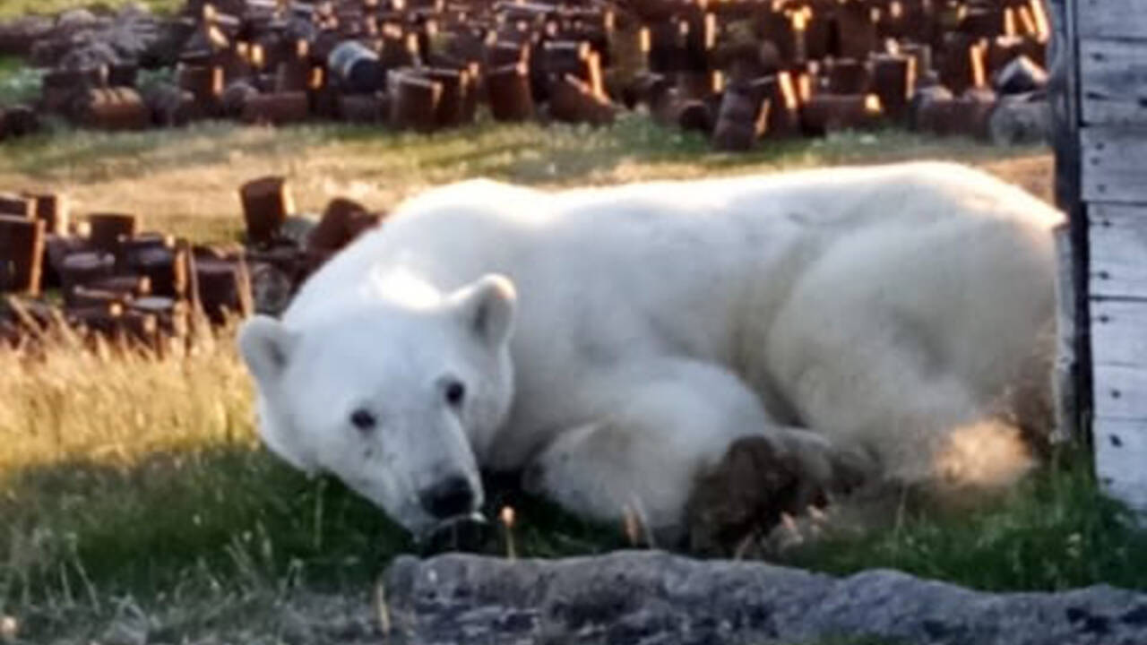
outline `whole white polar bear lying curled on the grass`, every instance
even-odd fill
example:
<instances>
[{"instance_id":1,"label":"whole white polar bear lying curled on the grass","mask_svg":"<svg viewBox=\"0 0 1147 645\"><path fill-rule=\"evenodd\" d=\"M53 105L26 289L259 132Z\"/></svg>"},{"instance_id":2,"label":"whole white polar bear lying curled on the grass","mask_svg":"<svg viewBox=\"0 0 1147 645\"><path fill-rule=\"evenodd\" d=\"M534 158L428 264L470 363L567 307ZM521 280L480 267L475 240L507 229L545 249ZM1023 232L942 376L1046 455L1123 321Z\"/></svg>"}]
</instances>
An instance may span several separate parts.
<instances>
[{"instance_id":1,"label":"whole white polar bear lying curled on the grass","mask_svg":"<svg viewBox=\"0 0 1147 645\"><path fill-rule=\"evenodd\" d=\"M743 437L819 479L938 476L1046 353L1061 220L945 163L465 181L401 204L239 343L266 444L416 534L475 513L481 469L671 529Z\"/></svg>"}]
</instances>

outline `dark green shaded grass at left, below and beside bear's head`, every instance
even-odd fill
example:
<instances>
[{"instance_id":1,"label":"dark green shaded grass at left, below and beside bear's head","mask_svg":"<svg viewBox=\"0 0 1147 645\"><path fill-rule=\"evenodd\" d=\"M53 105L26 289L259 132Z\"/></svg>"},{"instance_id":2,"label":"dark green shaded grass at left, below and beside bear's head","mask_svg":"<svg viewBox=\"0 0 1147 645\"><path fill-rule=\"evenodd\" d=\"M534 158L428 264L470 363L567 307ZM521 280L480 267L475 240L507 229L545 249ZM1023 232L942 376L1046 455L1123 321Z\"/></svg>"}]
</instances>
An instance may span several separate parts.
<instances>
[{"instance_id":1,"label":"dark green shaded grass at left, below and beside bear's head","mask_svg":"<svg viewBox=\"0 0 1147 645\"><path fill-rule=\"evenodd\" d=\"M623 546L616 531L582 522L490 481L485 514L516 511L523 557L560 557ZM305 580L314 589L364 586L408 535L331 477L307 479L258 448L216 445L154 452L117 465L73 459L0 480L0 591L38 599L141 593L188 576L241 586ZM505 554L505 530L470 550ZM14 592L14 593L13 593ZM0 597L0 601L3 598Z\"/></svg>"}]
</instances>

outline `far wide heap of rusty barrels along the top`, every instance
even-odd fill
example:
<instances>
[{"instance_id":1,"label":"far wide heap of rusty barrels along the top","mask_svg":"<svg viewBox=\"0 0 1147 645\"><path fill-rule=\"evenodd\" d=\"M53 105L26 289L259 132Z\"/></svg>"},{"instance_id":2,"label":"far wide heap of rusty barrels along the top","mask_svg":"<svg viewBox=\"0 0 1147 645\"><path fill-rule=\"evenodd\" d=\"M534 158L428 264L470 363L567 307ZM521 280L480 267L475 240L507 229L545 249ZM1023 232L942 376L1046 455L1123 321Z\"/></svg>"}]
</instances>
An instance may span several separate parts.
<instances>
[{"instance_id":1,"label":"far wide heap of rusty barrels along the top","mask_svg":"<svg viewBox=\"0 0 1147 645\"><path fill-rule=\"evenodd\" d=\"M46 112L102 130L233 118L430 132L479 112L604 124L624 107L720 149L887 124L1031 139L992 119L1001 104L1043 108L1048 37L1043 0L190 0L136 60L52 49L39 104L0 112L0 138ZM165 64L172 81L140 86L141 65Z\"/></svg>"}]
</instances>

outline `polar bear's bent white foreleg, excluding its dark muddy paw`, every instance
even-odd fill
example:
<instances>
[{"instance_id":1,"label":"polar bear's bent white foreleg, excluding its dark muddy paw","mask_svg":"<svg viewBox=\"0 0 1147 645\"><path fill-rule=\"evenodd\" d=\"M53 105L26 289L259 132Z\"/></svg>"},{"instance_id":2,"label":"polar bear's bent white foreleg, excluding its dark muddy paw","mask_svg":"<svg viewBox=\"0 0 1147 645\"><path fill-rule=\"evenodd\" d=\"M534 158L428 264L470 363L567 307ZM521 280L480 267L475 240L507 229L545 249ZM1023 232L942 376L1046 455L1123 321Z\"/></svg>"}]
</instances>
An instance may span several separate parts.
<instances>
[{"instance_id":1,"label":"polar bear's bent white foreleg, excluding its dark muddy paw","mask_svg":"<svg viewBox=\"0 0 1147 645\"><path fill-rule=\"evenodd\" d=\"M757 397L718 366L665 359L586 381L587 420L524 476L528 490L585 518L673 535L697 475L738 438L771 433Z\"/></svg>"}]
</instances>

